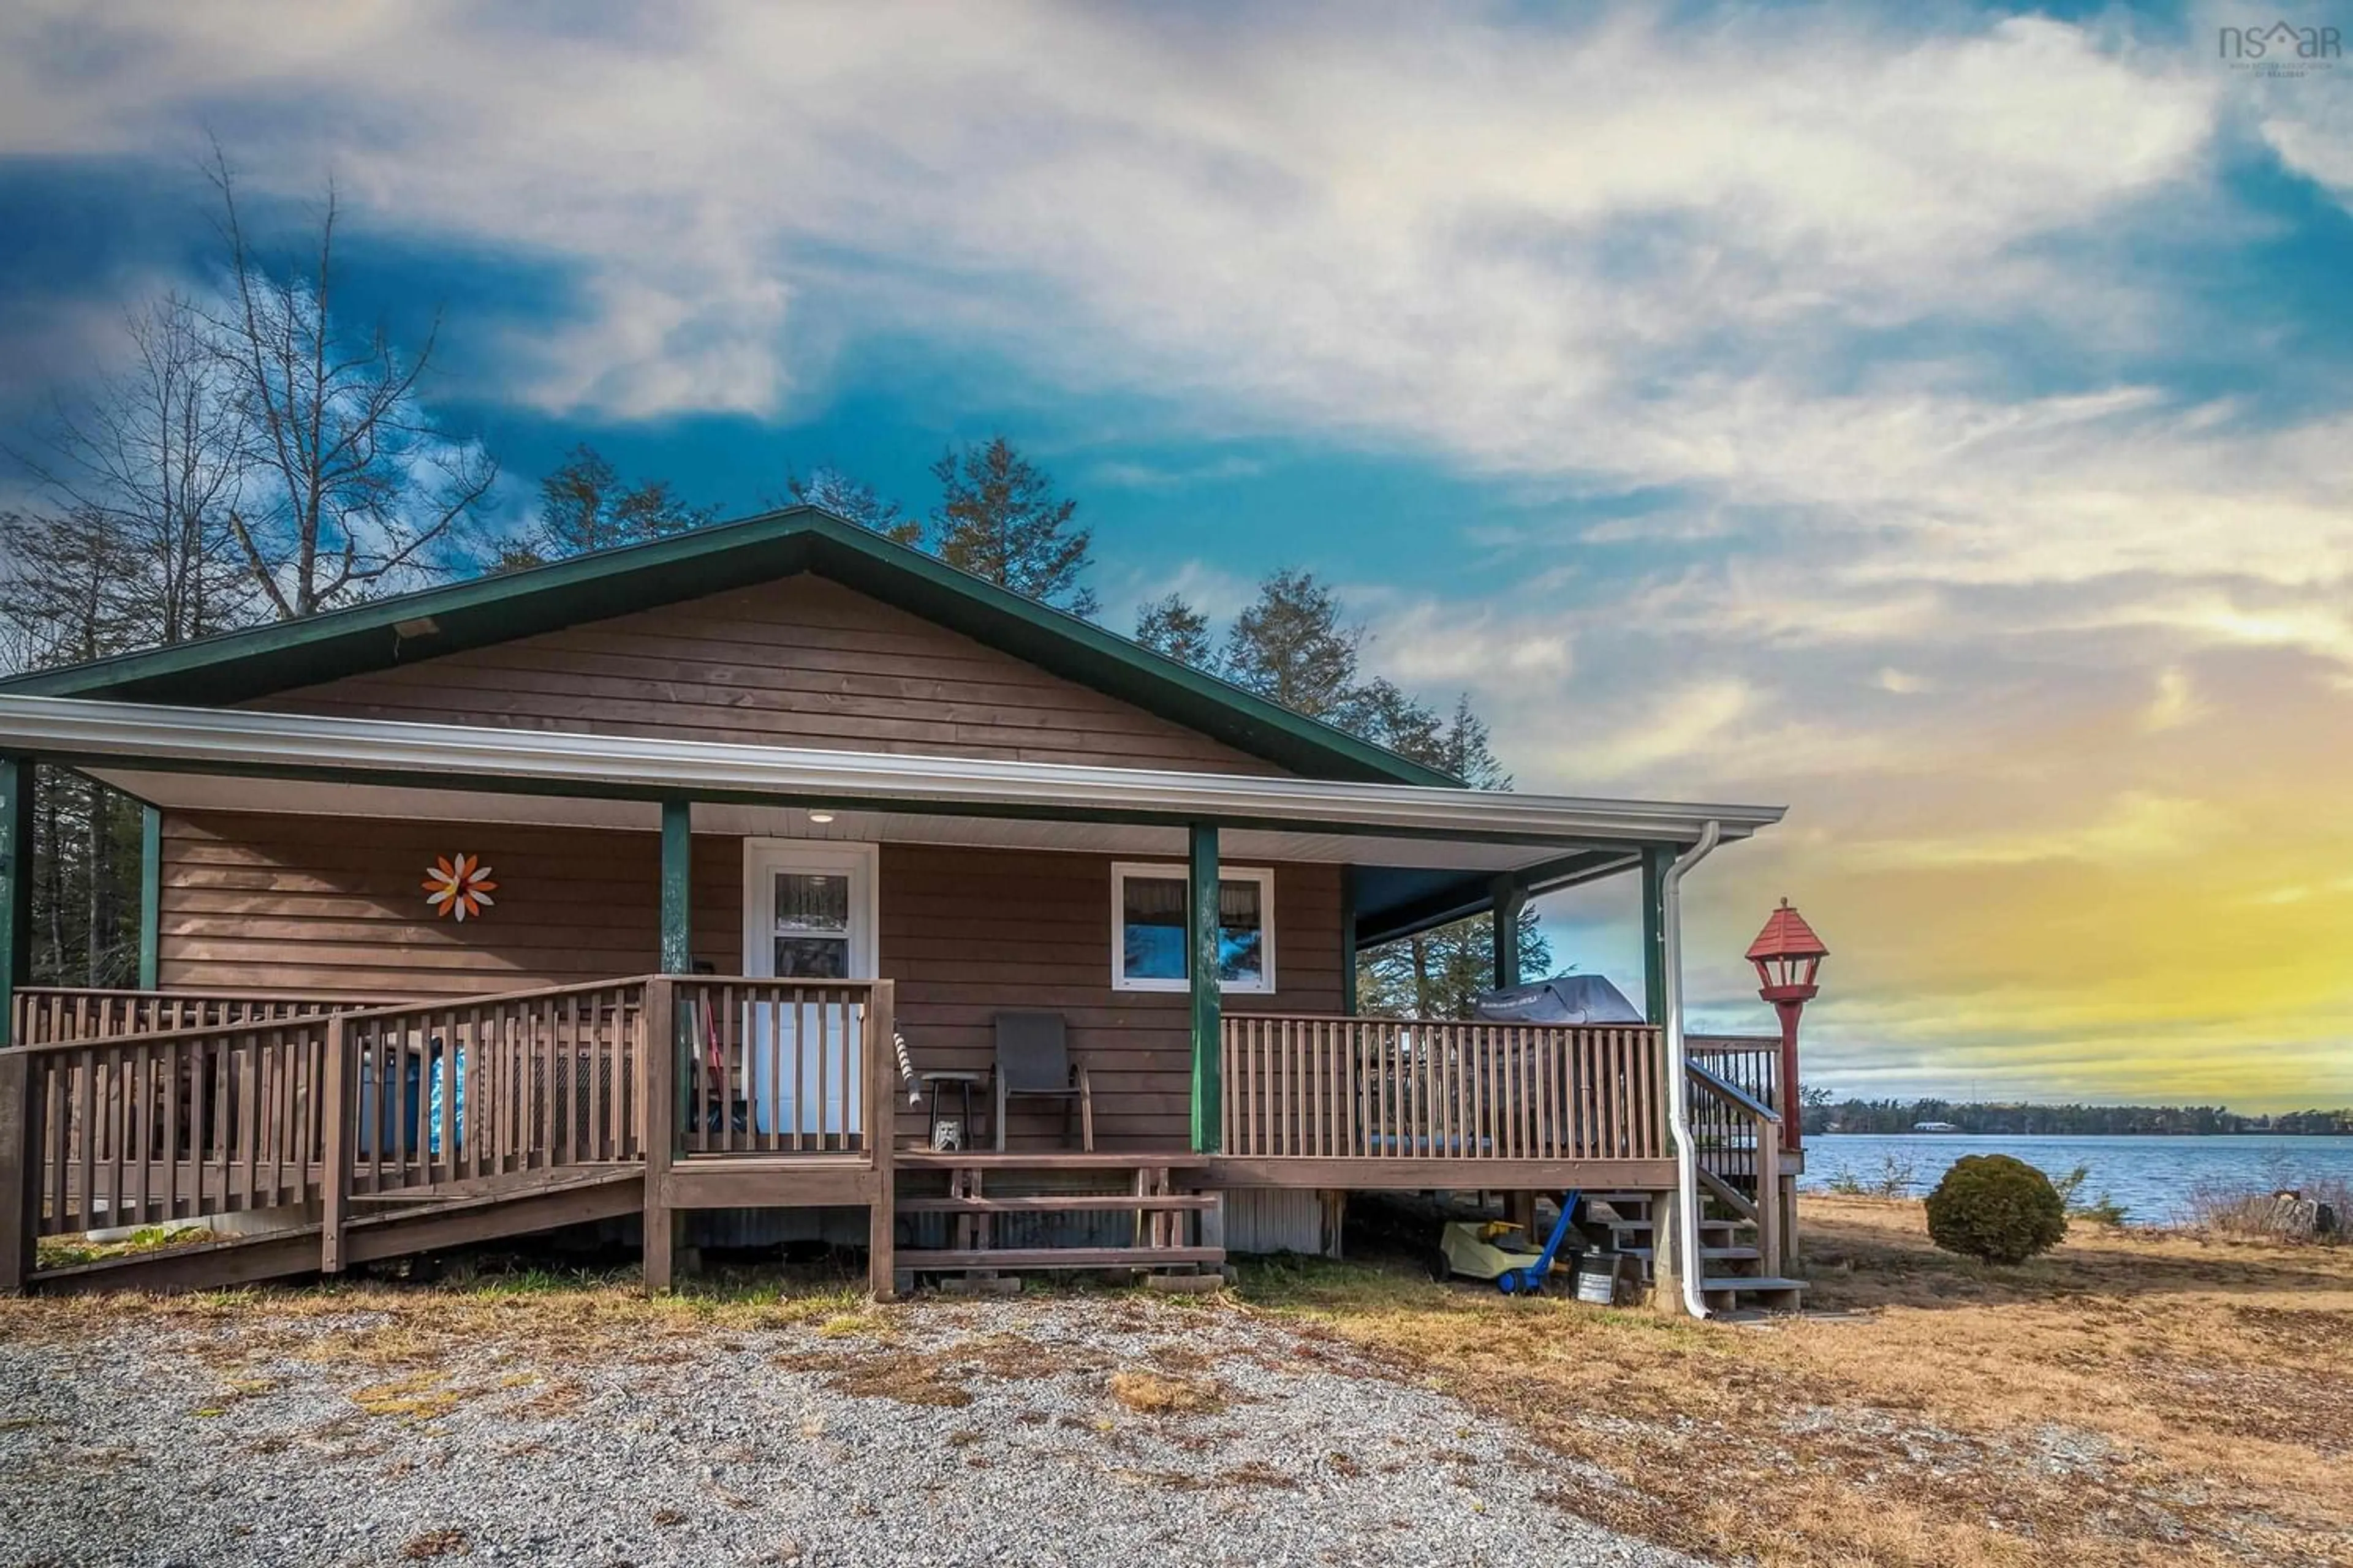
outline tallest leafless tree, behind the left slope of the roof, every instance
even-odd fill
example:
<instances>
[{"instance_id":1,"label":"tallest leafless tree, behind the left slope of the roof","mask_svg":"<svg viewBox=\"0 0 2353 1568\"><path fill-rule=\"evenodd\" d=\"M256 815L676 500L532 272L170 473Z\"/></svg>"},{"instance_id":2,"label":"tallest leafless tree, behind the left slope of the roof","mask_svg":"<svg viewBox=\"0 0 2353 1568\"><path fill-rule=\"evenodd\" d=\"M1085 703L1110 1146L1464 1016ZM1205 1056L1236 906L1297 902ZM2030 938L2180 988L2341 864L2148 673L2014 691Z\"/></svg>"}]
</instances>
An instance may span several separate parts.
<instances>
[{"instance_id":1,"label":"tallest leafless tree, behind the left slope of the roof","mask_svg":"<svg viewBox=\"0 0 2353 1568\"><path fill-rule=\"evenodd\" d=\"M207 174L228 249L228 303L214 329L252 461L252 482L228 510L245 569L289 621L435 574L499 477L480 447L445 437L419 397L440 320L412 355L393 348L384 322L344 331L334 186L296 273L254 254L219 146Z\"/></svg>"}]
</instances>

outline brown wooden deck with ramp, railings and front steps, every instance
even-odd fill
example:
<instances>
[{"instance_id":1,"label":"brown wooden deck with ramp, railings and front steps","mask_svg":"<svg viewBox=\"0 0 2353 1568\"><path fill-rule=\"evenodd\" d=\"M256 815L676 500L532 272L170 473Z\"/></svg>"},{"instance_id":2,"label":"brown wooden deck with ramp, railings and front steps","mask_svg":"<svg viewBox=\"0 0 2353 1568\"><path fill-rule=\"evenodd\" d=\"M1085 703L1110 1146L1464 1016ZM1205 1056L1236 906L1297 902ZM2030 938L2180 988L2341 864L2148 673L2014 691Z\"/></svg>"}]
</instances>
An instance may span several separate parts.
<instances>
[{"instance_id":1,"label":"brown wooden deck with ramp, railings and front steps","mask_svg":"<svg viewBox=\"0 0 2353 1568\"><path fill-rule=\"evenodd\" d=\"M878 1295L913 1272L1214 1272L1221 1194L1532 1199L1675 1182L1657 1030L1235 1016L1217 1152L906 1147L887 980L635 976L468 1001L21 992L0 1051L0 1288L219 1286L638 1215L866 1208ZM656 1048L654 1041L661 1041ZM1786 1234L1758 1041L1694 1074L1725 1222ZM1748 1056L1739 1056L1748 1051ZM1753 1088L1772 1093L1769 1084ZM901 1192L901 1180L906 1190ZM1132 1244L1040 1248L1045 1215ZM40 1237L247 1215L261 1234L40 1269ZM904 1225L948 1246L899 1248ZM911 1232L913 1234L913 1232ZM1054 1258L1040 1253L1054 1251Z\"/></svg>"}]
</instances>

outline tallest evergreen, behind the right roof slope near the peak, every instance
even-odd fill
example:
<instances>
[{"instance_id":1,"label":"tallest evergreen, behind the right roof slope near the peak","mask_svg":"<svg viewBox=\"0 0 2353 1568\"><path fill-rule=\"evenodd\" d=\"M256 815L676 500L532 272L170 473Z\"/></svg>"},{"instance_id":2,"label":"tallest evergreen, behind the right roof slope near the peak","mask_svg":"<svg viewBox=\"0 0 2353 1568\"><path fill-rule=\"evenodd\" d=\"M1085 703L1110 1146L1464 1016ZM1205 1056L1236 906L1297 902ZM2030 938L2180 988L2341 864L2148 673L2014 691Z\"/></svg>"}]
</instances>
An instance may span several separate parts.
<instances>
[{"instance_id":1,"label":"tallest evergreen, behind the right roof slope near the peak","mask_svg":"<svg viewBox=\"0 0 2353 1568\"><path fill-rule=\"evenodd\" d=\"M1080 583L1092 564L1092 529L1071 527L1078 501L1054 494L1042 468L1014 451L1002 435L986 447L946 451L932 465L939 508L932 512L932 552L1075 616L1092 616L1094 592Z\"/></svg>"}]
</instances>

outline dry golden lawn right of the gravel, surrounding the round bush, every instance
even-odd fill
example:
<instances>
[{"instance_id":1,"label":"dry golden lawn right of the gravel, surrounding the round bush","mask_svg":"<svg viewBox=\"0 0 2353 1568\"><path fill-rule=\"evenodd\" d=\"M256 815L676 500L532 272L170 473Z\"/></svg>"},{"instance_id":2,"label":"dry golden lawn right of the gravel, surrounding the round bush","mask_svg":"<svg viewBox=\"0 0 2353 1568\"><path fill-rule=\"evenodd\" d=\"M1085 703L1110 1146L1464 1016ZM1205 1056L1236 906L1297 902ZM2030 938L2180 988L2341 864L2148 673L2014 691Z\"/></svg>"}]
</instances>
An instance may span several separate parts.
<instances>
[{"instance_id":1,"label":"dry golden lawn right of the gravel, surrounding the round bush","mask_svg":"<svg viewBox=\"0 0 2353 1568\"><path fill-rule=\"evenodd\" d=\"M1765 1563L2353 1563L2353 1248L2078 1229L1993 1269L1918 1204L1807 1199L1812 1314L1755 1326L1266 1269L1624 1486L1562 1507Z\"/></svg>"}]
</instances>

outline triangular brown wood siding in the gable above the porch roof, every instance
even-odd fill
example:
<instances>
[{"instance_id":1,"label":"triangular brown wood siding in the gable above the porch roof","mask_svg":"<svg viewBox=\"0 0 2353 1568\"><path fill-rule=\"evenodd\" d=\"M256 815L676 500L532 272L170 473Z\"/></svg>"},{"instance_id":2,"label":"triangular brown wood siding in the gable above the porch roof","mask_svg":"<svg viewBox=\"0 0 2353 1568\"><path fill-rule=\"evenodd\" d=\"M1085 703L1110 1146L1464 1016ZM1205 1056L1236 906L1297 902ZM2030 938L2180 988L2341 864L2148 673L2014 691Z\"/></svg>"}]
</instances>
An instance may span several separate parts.
<instances>
[{"instance_id":1,"label":"triangular brown wood siding in the gable above the porch roof","mask_svg":"<svg viewBox=\"0 0 2353 1568\"><path fill-rule=\"evenodd\" d=\"M1181 724L842 588L793 576L431 654L254 708L680 741L1280 773Z\"/></svg>"}]
</instances>

